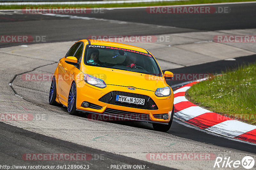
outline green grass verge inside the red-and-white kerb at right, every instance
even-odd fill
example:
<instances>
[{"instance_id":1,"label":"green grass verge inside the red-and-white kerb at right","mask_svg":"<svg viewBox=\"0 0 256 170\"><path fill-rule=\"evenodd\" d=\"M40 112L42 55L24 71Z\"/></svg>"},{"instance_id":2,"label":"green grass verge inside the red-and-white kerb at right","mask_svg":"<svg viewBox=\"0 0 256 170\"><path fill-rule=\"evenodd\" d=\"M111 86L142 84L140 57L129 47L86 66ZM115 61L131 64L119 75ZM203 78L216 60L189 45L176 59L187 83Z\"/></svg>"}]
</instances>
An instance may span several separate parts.
<instances>
[{"instance_id":1,"label":"green grass verge inside the red-and-white kerb at right","mask_svg":"<svg viewBox=\"0 0 256 170\"><path fill-rule=\"evenodd\" d=\"M255 75L256 63L229 69L193 85L186 97L210 111L256 125Z\"/></svg>"}]
</instances>

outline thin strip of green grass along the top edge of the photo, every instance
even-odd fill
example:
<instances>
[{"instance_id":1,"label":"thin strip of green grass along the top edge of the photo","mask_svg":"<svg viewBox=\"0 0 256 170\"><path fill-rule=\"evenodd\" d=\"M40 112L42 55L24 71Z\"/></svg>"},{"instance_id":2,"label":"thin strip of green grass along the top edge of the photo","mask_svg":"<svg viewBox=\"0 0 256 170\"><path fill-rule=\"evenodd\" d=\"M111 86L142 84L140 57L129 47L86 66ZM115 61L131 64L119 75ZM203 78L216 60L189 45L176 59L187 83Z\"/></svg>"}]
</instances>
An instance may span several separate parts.
<instances>
[{"instance_id":1,"label":"thin strip of green grass along the top edge of the photo","mask_svg":"<svg viewBox=\"0 0 256 170\"><path fill-rule=\"evenodd\" d=\"M125 3L125 4L70 4L70 5L1 5L0 10L22 9L25 7L81 7L81 8L114 8L114 7L138 7L138 6L164 6L164 5L188 5L188 4L212 4L228 2L250 2L255 0L189 0L172 2L152 2L152 3Z\"/></svg>"}]
</instances>

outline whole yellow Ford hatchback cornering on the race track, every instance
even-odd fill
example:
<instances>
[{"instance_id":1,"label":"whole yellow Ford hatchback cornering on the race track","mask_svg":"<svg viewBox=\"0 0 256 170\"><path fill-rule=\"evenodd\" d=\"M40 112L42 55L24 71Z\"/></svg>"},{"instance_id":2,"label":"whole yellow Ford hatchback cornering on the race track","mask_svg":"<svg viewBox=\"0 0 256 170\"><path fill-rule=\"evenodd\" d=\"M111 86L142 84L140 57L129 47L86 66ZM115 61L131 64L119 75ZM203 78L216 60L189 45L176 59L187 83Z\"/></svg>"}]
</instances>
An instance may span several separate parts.
<instances>
[{"instance_id":1,"label":"whole yellow Ford hatchback cornering on the race track","mask_svg":"<svg viewBox=\"0 0 256 170\"><path fill-rule=\"evenodd\" d=\"M148 122L156 131L168 131L174 97L167 77L172 78L172 72L163 74L146 49L83 39L59 60L49 103L66 106L71 115L80 111Z\"/></svg>"}]
</instances>

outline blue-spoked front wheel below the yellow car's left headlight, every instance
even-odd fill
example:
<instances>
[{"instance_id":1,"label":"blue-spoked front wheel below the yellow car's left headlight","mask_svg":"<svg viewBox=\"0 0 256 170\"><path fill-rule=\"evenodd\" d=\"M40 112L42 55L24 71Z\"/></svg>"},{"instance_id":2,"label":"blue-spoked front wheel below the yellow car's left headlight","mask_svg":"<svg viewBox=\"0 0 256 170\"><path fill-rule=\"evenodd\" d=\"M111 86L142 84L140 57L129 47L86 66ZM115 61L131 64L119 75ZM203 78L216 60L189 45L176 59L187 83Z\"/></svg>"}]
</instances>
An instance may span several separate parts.
<instances>
[{"instance_id":1,"label":"blue-spoked front wheel below the yellow car's left headlight","mask_svg":"<svg viewBox=\"0 0 256 170\"><path fill-rule=\"evenodd\" d=\"M76 83L73 82L68 94L68 113L75 115L76 111Z\"/></svg>"}]
</instances>

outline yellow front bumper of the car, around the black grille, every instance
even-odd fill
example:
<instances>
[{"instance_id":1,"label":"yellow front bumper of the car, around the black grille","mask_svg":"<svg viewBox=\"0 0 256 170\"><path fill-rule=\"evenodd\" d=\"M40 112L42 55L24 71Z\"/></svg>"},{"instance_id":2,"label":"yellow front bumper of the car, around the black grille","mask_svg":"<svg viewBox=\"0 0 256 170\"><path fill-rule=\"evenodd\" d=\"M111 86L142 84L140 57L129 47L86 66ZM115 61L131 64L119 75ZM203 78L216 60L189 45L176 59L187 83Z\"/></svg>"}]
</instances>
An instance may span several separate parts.
<instances>
[{"instance_id":1,"label":"yellow front bumper of the car, around the black grille","mask_svg":"<svg viewBox=\"0 0 256 170\"><path fill-rule=\"evenodd\" d=\"M76 109L81 112L85 113L94 113L99 115L108 115L110 117L116 117L118 115L109 114L109 110L112 109L116 110L116 113L132 113L132 114L142 114L142 115L148 115L148 119L136 119L136 121L143 121L143 122L150 122L150 123L163 123L168 124L170 121L171 113L172 113L172 107L173 107L173 92L171 90L171 95L167 97L157 97L155 95L155 92L149 91L149 90L143 90L143 89L135 89L135 90L129 90L127 87L123 86L116 86L116 85L107 85L106 88L97 88L95 86L92 86L88 83L85 83L84 81L80 81L76 85ZM108 94L111 91L121 91L121 92L127 92L127 93L134 93L134 94L140 94L140 95L146 95L150 97L157 106L157 110L148 110L148 109L139 109L133 107L125 107L115 104L109 104L100 102L99 99ZM101 106L101 109L93 109L93 108L85 108L82 107L81 104L86 101L89 103L93 103L96 105ZM154 114L164 114L167 113L169 115L167 120L161 119L161 118L155 118ZM120 116L120 115L119 115ZM129 118L129 117L127 117ZM133 119L131 119L133 120Z\"/></svg>"}]
</instances>

